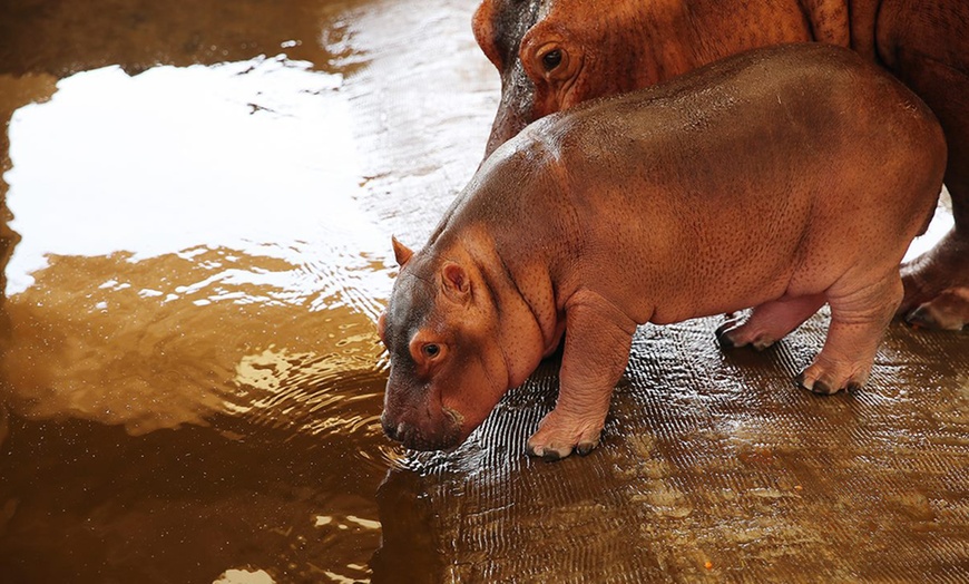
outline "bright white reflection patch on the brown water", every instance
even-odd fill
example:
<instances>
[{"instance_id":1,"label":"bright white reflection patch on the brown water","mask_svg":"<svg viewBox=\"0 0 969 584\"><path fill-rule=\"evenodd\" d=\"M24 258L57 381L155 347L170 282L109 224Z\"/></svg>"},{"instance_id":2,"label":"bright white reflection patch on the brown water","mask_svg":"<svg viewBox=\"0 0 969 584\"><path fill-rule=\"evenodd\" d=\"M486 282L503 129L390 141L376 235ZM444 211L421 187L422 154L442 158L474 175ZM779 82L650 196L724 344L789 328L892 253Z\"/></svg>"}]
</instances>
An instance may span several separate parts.
<instances>
[{"instance_id":1,"label":"bright white reflection patch on the brown water","mask_svg":"<svg viewBox=\"0 0 969 584\"><path fill-rule=\"evenodd\" d=\"M47 254L137 261L206 245L275 256L321 234L384 250L353 201L360 171L341 82L283 57L63 79L10 123L10 225L23 240L8 294L31 284Z\"/></svg>"}]
</instances>

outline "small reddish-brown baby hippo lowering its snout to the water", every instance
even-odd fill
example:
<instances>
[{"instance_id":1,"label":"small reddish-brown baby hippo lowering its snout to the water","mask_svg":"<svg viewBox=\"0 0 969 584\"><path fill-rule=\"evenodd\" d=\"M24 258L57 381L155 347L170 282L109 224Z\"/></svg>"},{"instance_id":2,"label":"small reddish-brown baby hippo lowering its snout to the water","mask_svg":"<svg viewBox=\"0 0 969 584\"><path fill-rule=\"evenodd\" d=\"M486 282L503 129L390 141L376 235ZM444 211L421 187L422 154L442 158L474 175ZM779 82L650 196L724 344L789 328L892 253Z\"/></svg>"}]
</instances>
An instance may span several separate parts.
<instances>
[{"instance_id":1,"label":"small reddish-brown baby hippo lowering its snout to the water","mask_svg":"<svg viewBox=\"0 0 969 584\"><path fill-rule=\"evenodd\" d=\"M797 383L859 387L944 167L918 97L819 43L542 118L483 163L423 250L393 241L383 428L410 448L459 445L564 337L558 401L528 450L586 454L638 324L750 306L723 345L769 345L830 304Z\"/></svg>"}]
</instances>

